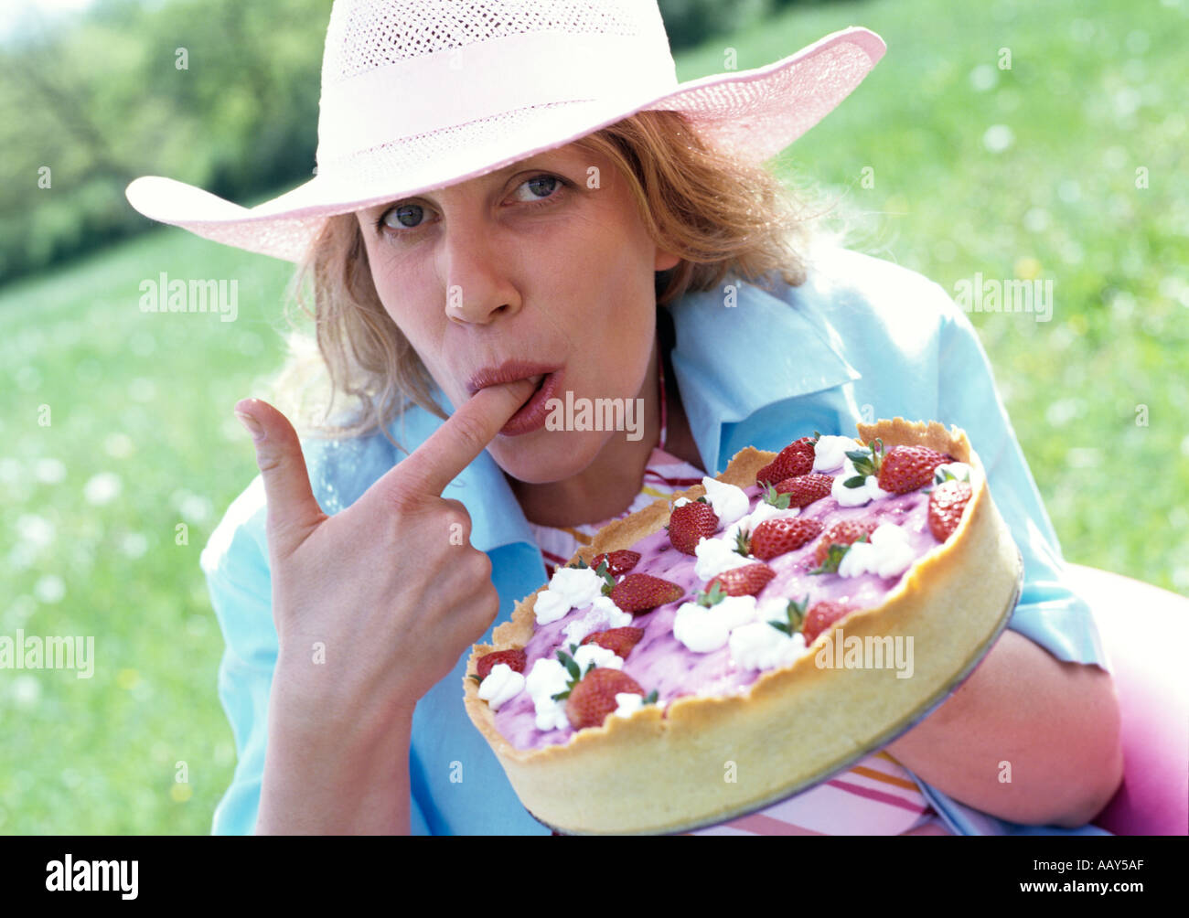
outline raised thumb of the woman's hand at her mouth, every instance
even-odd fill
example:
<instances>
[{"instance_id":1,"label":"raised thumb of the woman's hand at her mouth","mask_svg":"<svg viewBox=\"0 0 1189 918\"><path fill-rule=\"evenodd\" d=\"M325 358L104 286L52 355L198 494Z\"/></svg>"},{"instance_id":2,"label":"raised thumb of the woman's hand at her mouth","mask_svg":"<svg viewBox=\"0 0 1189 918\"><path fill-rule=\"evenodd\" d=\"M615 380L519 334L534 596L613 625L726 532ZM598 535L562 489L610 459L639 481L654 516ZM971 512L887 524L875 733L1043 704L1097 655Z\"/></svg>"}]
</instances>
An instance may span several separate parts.
<instances>
[{"instance_id":1,"label":"raised thumb of the woman's hand at her mouth","mask_svg":"<svg viewBox=\"0 0 1189 918\"><path fill-rule=\"evenodd\" d=\"M326 518L309 486L297 432L281 411L259 398L235 403L235 416L252 434L256 464L269 503L269 543L284 557Z\"/></svg>"}]
</instances>

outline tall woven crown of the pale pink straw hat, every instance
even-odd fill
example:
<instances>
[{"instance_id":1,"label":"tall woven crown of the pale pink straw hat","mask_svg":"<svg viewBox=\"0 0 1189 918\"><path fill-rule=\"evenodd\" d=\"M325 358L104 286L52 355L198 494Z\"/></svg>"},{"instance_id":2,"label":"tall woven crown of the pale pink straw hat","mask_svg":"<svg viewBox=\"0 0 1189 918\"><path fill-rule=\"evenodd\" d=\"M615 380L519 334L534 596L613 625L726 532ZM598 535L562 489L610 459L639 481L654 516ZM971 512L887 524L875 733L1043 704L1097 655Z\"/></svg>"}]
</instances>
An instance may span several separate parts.
<instances>
[{"instance_id":1,"label":"tall woven crown of the pale pink straw hat","mask_svg":"<svg viewBox=\"0 0 1189 918\"><path fill-rule=\"evenodd\" d=\"M455 143L482 143L486 122L528 109L611 111L677 86L656 0L338 0L319 170L430 132L468 125Z\"/></svg>"}]
</instances>

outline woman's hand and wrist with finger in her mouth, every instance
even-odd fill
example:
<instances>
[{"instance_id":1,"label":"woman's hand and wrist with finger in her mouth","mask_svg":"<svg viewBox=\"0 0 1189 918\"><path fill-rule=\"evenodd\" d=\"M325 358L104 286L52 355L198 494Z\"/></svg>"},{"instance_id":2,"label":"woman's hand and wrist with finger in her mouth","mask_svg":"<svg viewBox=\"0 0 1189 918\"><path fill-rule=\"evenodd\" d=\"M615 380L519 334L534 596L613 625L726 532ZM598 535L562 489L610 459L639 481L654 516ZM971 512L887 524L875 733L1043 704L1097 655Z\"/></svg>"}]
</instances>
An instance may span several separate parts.
<instances>
[{"instance_id":1,"label":"woman's hand and wrist with finger in her mouth","mask_svg":"<svg viewBox=\"0 0 1189 918\"><path fill-rule=\"evenodd\" d=\"M258 831L408 830L414 705L499 611L471 517L441 492L531 391L528 381L480 390L333 516L284 415L235 405L268 497L279 648Z\"/></svg>"}]
</instances>

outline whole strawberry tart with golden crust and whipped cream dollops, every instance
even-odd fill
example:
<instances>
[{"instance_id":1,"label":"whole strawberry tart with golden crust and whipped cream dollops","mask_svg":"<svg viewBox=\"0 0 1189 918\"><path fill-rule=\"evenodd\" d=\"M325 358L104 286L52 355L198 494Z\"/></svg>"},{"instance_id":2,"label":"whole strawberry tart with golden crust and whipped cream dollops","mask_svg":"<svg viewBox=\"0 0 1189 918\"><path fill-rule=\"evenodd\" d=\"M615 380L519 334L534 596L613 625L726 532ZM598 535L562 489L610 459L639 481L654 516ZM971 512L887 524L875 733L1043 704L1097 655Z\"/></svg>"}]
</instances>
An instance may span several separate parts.
<instances>
[{"instance_id":1,"label":"whole strawberry tart with golden crust and whipped cream dollops","mask_svg":"<svg viewBox=\"0 0 1189 918\"><path fill-rule=\"evenodd\" d=\"M565 834L763 809L886 746L990 649L1023 566L965 434L747 447L598 532L477 645L467 712Z\"/></svg>"}]
</instances>

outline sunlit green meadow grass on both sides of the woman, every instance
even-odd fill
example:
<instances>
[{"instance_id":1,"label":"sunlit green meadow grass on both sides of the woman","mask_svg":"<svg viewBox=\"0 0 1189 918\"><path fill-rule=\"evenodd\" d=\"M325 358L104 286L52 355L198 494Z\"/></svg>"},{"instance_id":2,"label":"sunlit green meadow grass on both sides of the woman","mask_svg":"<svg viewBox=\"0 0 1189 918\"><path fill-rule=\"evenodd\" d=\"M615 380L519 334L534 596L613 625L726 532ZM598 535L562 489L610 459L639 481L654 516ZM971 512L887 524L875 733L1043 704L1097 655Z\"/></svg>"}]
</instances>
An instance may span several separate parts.
<instances>
[{"instance_id":1,"label":"sunlit green meadow grass on both sides of the woman","mask_svg":"<svg viewBox=\"0 0 1189 918\"><path fill-rule=\"evenodd\" d=\"M1055 281L1051 322L971 317L1065 555L1189 591L1184 5L794 10L679 76L721 69L726 45L747 69L851 24L888 55L784 168L841 197L856 245L948 290L975 272ZM992 125L1013 145L990 152ZM159 271L238 278L238 321L143 314L138 284ZM209 831L234 749L197 559L256 472L231 408L279 363L288 273L168 228L0 291L0 635L94 635L96 655L89 680L0 671L0 832ZM96 504L100 474L120 491Z\"/></svg>"}]
</instances>

